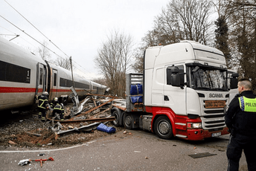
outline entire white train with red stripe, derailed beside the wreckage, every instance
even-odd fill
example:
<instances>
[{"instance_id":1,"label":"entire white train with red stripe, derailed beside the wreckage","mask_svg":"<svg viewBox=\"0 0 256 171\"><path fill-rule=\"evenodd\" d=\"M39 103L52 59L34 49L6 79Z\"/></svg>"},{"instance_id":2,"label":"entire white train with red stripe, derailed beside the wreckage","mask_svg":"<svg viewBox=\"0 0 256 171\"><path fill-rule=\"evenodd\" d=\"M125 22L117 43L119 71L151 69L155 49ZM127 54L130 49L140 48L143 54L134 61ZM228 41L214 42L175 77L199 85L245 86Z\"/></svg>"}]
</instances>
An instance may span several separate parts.
<instances>
[{"instance_id":1,"label":"entire white train with red stripe, derailed beside the wreckage","mask_svg":"<svg viewBox=\"0 0 256 171\"><path fill-rule=\"evenodd\" d=\"M49 100L68 99L73 86L71 71L48 63L0 37L0 111L31 106L36 95L48 91ZM88 92L104 94L106 86L74 74L79 97Z\"/></svg>"}]
</instances>

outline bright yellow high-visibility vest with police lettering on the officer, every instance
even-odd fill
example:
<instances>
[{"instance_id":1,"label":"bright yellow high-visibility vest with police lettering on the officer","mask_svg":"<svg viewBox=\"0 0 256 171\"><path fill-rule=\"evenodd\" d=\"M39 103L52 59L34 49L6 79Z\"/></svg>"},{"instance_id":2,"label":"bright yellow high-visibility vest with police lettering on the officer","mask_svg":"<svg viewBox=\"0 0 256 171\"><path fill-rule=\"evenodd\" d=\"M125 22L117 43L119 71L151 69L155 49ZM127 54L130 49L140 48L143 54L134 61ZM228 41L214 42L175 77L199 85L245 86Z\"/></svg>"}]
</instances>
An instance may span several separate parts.
<instances>
[{"instance_id":1,"label":"bright yellow high-visibility vest with police lettering on the officer","mask_svg":"<svg viewBox=\"0 0 256 171\"><path fill-rule=\"evenodd\" d=\"M244 112L256 112L256 98L239 97L240 109Z\"/></svg>"}]
</instances>

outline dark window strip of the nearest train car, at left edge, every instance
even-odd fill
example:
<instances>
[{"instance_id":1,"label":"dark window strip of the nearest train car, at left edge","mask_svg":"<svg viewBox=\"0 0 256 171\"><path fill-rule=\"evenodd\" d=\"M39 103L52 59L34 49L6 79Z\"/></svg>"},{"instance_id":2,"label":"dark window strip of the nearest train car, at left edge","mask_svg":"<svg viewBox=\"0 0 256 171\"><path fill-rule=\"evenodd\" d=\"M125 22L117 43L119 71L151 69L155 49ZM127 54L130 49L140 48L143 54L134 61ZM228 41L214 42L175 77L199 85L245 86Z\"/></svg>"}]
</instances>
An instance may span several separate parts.
<instances>
[{"instance_id":1,"label":"dark window strip of the nearest train car, at left edge","mask_svg":"<svg viewBox=\"0 0 256 171\"><path fill-rule=\"evenodd\" d=\"M31 83L31 69L0 61L0 80L16 83Z\"/></svg>"}]
</instances>

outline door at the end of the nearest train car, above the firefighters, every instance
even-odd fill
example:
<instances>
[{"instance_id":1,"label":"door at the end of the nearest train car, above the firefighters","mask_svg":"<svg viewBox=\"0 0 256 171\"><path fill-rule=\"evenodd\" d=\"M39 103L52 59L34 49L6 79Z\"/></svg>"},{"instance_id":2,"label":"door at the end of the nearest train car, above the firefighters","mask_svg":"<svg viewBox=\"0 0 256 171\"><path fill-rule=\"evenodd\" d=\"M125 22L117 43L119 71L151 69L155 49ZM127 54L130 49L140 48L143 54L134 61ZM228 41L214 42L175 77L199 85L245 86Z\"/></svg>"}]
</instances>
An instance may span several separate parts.
<instances>
[{"instance_id":1,"label":"door at the end of the nearest train car, above the firefighters","mask_svg":"<svg viewBox=\"0 0 256 171\"><path fill-rule=\"evenodd\" d=\"M46 68L42 63L37 64L36 94L42 94L46 90Z\"/></svg>"}]
</instances>

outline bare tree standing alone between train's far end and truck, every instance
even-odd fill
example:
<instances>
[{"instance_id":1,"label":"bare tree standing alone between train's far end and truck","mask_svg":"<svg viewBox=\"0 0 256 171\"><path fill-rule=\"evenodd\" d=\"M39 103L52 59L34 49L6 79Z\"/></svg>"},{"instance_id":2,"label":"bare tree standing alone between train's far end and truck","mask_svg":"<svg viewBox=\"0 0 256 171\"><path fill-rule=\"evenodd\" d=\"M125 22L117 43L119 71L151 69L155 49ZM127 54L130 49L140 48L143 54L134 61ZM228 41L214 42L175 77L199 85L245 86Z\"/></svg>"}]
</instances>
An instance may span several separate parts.
<instances>
[{"instance_id":1,"label":"bare tree standing alone between train's far end and truck","mask_svg":"<svg viewBox=\"0 0 256 171\"><path fill-rule=\"evenodd\" d=\"M115 95L125 96L125 74L131 67L132 37L114 31L103 42L95 57L95 65L106 78Z\"/></svg>"}]
</instances>

